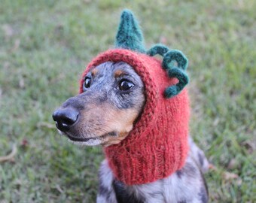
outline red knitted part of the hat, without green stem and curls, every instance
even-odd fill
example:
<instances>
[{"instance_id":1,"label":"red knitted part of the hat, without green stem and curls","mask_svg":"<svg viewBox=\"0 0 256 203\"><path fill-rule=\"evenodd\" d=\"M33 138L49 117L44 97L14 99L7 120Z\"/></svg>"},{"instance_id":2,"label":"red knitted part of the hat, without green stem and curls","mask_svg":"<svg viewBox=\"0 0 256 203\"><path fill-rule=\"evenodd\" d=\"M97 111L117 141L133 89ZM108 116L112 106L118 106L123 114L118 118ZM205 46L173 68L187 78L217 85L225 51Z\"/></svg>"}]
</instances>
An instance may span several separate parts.
<instances>
[{"instance_id":1,"label":"red knitted part of the hat, without green stem and curls","mask_svg":"<svg viewBox=\"0 0 256 203\"><path fill-rule=\"evenodd\" d=\"M117 180L127 185L150 183L182 168L187 157L189 101L187 90L166 98L166 86L178 83L169 78L160 60L132 50L108 50L96 56L91 68L103 62L126 62L142 78L146 103L141 117L130 134L120 142L105 147L105 156Z\"/></svg>"}]
</instances>

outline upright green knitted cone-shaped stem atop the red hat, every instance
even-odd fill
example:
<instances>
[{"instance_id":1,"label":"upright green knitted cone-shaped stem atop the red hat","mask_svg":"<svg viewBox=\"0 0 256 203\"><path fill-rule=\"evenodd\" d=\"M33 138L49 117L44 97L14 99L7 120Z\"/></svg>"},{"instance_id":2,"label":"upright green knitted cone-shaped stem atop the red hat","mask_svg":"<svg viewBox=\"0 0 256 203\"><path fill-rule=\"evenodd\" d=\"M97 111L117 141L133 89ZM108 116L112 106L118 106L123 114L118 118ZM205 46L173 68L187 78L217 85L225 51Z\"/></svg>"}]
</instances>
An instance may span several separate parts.
<instances>
[{"instance_id":1,"label":"upright green knitted cone-shaped stem atop the red hat","mask_svg":"<svg viewBox=\"0 0 256 203\"><path fill-rule=\"evenodd\" d=\"M144 38L139 23L130 10L123 10L117 30L115 47L145 53Z\"/></svg>"}]
</instances>

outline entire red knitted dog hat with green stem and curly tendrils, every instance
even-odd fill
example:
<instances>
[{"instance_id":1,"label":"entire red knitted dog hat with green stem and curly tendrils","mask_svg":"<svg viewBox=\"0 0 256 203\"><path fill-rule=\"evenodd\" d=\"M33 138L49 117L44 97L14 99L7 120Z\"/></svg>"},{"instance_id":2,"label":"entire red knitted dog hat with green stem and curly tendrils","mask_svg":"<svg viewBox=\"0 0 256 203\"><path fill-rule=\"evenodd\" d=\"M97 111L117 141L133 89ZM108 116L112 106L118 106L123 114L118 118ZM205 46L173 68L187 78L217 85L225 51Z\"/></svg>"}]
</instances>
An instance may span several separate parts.
<instances>
[{"instance_id":1,"label":"entire red knitted dog hat with green stem and curly tendrils","mask_svg":"<svg viewBox=\"0 0 256 203\"><path fill-rule=\"evenodd\" d=\"M148 52L131 11L121 15L114 50L99 54L87 66L126 62L142 78L146 102L133 130L120 142L105 147L108 165L117 180L127 185L150 183L182 168L188 151L189 100L184 86L187 59L178 50L155 45ZM153 56L160 54L163 62Z\"/></svg>"}]
</instances>

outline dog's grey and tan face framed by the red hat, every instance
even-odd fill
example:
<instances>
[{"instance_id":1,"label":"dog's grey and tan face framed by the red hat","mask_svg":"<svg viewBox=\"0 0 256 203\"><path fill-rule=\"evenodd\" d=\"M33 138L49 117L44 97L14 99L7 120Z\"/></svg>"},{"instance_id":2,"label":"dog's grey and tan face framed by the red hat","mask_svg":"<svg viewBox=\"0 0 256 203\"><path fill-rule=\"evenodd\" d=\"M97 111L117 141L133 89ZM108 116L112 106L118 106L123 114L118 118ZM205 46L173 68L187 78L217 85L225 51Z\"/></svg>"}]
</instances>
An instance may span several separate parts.
<instances>
[{"instance_id":1,"label":"dog's grey and tan face framed by the red hat","mask_svg":"<svg viewBox=\"0 0 256 203\"><path fill-rule=\"evenodd\" d=\"M53 113L62 135L76 144L118 144L133 129L145 104L144 84L124 62L105 62L84 77L83 93Z\"/></svg>"}]
</instances>

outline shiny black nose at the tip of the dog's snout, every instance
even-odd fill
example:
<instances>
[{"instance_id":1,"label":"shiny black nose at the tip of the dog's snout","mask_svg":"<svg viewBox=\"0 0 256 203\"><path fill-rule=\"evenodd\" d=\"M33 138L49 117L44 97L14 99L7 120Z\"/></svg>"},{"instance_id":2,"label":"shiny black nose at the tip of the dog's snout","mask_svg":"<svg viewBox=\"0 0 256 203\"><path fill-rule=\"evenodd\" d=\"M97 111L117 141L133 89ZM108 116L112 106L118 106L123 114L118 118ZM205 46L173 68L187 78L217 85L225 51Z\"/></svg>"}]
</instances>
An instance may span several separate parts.
<instances>
[{"instance_id":1,"label":"shiny black nose at the tip of the dog's snout","mask_svg":"<svg viewBox=\"0 0 256 203\"><path fill-rule=\"evenodd\" d=\"M58 109L53 112L53 120L57 129L62 132L69 131L70 127L78 120L78 111L72 108Z\"/></svg>"}]
</instances>

